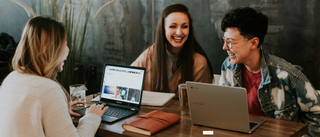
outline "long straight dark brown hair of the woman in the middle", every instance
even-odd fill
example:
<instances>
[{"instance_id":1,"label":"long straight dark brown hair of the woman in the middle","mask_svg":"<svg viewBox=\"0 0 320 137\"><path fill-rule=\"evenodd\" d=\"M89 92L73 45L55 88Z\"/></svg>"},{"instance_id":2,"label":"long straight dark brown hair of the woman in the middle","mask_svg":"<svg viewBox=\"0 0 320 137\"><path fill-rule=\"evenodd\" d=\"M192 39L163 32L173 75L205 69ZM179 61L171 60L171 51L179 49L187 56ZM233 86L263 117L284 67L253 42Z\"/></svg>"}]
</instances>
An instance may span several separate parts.
<instances>
[{"instance_id":1,"label":"long straight dark brown hair of the woman in the middle","mask_svg":"<svg viewBox=\"0 0 320 137\"><path fill-rule=\"evenodd\" d=\"M168 92L169 91L169 83L168 83L168 76L167 76L167 63L166 63L166 44L169 45L170 43L166 39L165 36L165 27L164 22L165 18L173 13L173 12L182 12L185 13L189 18L189 36L186 42L183 44L183 48L179 52L178 61L177 61L177 68L181 67L181 80L179 83L184 83L186 81L193 81L193 54L199 53L204 56L207 60L211 79L213 77L213 70L211 63L201 48L200 44L196 40L194 36L194 30L192 26L192 18L190 16L189 10L185 5L182 4L174 4L170 5L165 8L159 18L156 38L155 38L155 48L153 49L153 71L152 71L152 82L151 88L155 91L161 92Z\"/></svg>"}]
</instances>

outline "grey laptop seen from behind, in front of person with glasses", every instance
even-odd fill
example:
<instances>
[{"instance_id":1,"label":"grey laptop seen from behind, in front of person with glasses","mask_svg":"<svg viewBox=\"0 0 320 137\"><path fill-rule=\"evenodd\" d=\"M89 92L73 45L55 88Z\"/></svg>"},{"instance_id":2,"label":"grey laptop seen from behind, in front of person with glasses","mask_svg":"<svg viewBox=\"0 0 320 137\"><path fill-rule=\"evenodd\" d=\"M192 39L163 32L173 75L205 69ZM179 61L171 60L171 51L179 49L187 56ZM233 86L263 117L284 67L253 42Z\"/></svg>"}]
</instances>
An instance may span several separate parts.
<instances>
[{"instance_id":1,"label":"grey laptop seen from behind, in front of person with glasses","mask_svg":"<svg viewBox=\"0 0 320 137\"><path fill-rule=\"evenodd\" d=\"M192 123L232 131L252 133L265 119L249 117L247 91L187 81Z\"/></svg>"}]
</instances>

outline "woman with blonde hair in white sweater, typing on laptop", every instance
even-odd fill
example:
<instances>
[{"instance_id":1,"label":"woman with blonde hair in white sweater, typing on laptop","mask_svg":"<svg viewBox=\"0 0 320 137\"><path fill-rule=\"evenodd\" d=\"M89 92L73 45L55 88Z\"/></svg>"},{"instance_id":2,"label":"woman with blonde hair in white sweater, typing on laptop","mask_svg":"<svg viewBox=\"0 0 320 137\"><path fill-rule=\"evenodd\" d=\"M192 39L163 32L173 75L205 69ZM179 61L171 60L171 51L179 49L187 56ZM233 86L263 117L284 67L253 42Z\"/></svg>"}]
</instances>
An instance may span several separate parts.
<instances>
[{"instance_id":1,"label":"woman with blonde hair in white sweater, typing on laptop","mask_svg":"<svg viewBox=\"0 0 320 137\"><path fill-rule=\"evenodd\" d=\"M68 52L62 24L45 16L27 22L12 60L14 71L0 89L0 136L94 136L107 107L92 105L74 127L69 115L76 115L74 103L56 80Z\"/></svg>"}]
</instances>

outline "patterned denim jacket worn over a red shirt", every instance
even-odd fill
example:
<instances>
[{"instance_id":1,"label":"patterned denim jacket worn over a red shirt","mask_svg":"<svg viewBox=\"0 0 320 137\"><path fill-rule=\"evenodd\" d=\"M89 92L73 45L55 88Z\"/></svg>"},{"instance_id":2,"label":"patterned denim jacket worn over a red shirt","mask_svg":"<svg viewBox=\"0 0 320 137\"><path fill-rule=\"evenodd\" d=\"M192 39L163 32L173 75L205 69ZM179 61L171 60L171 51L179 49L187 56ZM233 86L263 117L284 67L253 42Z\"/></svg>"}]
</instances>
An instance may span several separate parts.
<instances>
[{"instance_id":1,"label":"patterned denim jacket worn over a red shirt","mask_svg":"<svg viewBox=\"0 0 320 137\"><path fill-rule=\"evenodd\" d=\"M222 64L218 84L244 87L242 65L231 64L228 57ZM258 99L265 115L308 124L308 133L304 136L320 136L320 93L303 69L262 48L260 69Z\"/></svg>"}]
</instances>

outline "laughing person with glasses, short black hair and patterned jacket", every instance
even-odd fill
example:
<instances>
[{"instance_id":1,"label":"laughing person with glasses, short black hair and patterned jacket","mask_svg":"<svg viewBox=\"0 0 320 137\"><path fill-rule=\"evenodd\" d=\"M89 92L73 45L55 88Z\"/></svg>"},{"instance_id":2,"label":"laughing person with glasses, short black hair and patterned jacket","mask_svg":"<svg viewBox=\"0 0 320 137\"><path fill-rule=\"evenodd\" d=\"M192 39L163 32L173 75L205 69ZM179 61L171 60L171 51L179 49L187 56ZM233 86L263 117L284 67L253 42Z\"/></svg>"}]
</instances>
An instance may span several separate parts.
<instances>
[{"instance_id":1,"label":"laughing person with glasses, short black hair and patterned jacket","mask_svg":"<svg viewBox=\"0 0 320 137\"><path fill-rule=\"evenodd\" d=\"M245 7L227 13L221 23L223 50L219 85L247 89L250 114L308 124L305 136L320 135L320 95L303 69L268 54L261 46L268 17Z\"/></svg>"}]
</instances>

